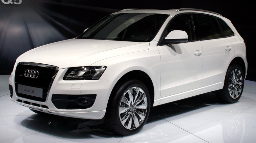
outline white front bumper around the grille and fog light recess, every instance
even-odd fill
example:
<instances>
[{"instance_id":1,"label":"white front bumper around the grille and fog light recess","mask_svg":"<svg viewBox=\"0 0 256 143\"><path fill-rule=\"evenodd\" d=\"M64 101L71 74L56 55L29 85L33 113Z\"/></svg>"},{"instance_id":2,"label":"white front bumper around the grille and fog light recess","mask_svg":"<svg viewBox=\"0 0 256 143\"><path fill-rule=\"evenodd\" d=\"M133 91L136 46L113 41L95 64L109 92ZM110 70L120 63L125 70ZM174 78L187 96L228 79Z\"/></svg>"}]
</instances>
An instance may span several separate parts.
<instances>
[{"instance_id":1,"label":"white front bumper around the grille and fog light recess","mask_svg":"<svg viewBox=\"0 0 256 143\"><path fill-rule=\"evenodd\" d=\"M44 113L82 119L102 119L106 112L111 89L114 87L115 83L113 81L106 80L64 81L63 76L66 71L67 69L60 69L58 71L45 102L17 96L15 86L13 86L14 74L11 74L9 84L12 87L13 93L12 96L10 96L10 100L30 109ZM96 99L89 108L65 108L65 106L60 108L60 106L56 107L56 104L53 104L53 95L69 95L71 97L73 95L76 97L80 97L79 95L82 97L86 95L96 95Z\"/></svg>"}]
</instances>

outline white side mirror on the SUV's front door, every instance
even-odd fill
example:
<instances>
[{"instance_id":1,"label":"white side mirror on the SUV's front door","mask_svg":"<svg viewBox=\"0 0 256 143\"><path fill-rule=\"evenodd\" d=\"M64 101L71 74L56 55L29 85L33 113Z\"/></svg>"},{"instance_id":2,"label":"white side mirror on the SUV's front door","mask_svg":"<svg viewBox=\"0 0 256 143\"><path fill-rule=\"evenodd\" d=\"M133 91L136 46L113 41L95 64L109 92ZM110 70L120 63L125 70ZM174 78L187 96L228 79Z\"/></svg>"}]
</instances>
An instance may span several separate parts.
<instances>
[{"instance_id":1,"label":"white side mirror on the SUV's front door","mask_svg":"<svg viewBox=\"0 0 256 143\"><path fill-rule=\"evenodd\" d=\"M173 30L164 39L165 44L178 44L187 42L188 36L185 31Z\"/></svg>"}]
</instances>

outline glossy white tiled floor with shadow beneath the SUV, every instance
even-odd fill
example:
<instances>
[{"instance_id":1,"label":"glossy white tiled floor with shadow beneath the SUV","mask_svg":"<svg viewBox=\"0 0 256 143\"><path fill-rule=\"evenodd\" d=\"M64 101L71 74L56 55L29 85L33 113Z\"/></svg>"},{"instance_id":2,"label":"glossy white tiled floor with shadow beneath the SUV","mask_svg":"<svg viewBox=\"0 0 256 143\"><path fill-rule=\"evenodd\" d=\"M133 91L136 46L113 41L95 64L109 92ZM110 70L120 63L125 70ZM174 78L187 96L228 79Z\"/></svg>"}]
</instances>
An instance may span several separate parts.
<instances>
[{"instance_id":1,"label":"glossy white tiled floor with shadow beneath the SUV","mask_svg":"<svg viewBox=\"0 0 256 143\"><path fill-rule=\"evenodd\" d=\"M38 115L9 100L9 75L0 75L0 142L254 142L256 82L245 81L237 103L223 104L214 93L152 107L143 129L120 136L103 123Z\"/></svg>"}]
</instances>

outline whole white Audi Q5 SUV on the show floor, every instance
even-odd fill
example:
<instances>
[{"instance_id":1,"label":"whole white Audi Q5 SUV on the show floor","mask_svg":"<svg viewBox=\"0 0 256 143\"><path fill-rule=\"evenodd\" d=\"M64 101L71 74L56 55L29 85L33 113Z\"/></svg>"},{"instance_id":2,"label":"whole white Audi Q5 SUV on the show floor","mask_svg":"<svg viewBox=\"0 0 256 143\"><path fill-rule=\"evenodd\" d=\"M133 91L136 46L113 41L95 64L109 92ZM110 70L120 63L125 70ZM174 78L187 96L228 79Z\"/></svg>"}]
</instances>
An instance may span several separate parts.
<instances>
[{"instance_id":1,"label":"whole white Audi Q5 SUV on the show floor","mask_svg":"<svg viewBox=\"0 0 256 143\"><path fill-rule=\"evenodd\" d=\"M75 39L19 56L9 88L11 101L35 113L104 118L131 135L151 106L211 91L237 102L246 73L245 42L220 14L124 9Z\"/></svg>"}]
</instances>

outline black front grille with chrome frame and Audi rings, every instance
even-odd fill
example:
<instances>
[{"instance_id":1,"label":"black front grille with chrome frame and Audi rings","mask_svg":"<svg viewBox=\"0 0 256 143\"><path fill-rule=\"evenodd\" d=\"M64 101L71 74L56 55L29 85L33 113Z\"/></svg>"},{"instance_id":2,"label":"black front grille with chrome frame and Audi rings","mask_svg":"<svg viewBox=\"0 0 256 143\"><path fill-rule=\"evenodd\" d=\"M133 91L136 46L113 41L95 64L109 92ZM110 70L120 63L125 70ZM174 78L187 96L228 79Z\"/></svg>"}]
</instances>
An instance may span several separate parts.
<instances>
[{"instance_id":1,"label":"black front grille with chrome frame and Audi rings","mask_svg":"<svg viewBox=\"0 0 256 143\"><path fill-rule=\"evenodd\" d=\"M45 102L48 92L52 86L53 80L58 72L58 69L58 67L51 65L44 65L38 63L19 63L15 71L16 95L22 98ZM28 74L28 71L30 71L31 74ZM32 71L37 71L36 75L32 74ZM38 96L24 94L24 92L20 91L18 92L18 85L28 86L31 88L35 87L36 89L40 89L40 91L42 90L42 95Z\"/></svg>"}]
</instances>

